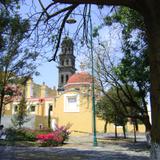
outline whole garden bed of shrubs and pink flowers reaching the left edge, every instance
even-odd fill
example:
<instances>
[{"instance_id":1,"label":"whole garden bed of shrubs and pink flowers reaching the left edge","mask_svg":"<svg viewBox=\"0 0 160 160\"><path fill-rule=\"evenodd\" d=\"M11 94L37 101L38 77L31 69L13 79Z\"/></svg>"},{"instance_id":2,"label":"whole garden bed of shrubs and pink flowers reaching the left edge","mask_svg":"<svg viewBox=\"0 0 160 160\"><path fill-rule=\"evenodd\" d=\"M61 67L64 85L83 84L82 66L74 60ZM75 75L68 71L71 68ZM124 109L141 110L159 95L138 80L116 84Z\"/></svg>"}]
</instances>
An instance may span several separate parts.
<instances>
[{"instance_id":1,"label":"whole garden bed of shrubs and pink flowers reaching the left edge","mask_svg":"<svg viewBox=\"0 0 160 160\"><path fill-rule=\"evenodd\" d=\"M10 127L6 128L5 135L0 145L53 147L65 144L70 132L68 126L57 126L54 131L48 128L33 130Z\"/></svg>"}]
</instances>

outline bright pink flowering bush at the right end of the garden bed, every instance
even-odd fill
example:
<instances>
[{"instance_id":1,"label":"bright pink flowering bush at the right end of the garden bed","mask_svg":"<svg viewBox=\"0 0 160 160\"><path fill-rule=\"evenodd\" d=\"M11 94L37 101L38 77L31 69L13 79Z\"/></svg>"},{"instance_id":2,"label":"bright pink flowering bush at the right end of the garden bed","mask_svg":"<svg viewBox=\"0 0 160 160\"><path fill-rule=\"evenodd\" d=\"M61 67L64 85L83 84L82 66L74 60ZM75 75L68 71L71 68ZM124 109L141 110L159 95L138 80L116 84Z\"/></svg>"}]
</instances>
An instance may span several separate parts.
<instances>
[{"instance_id":1,"label":"bright pink flowering bush at the right end of the garden bed","mask_svg":"<svg viewBox=\"0 0 160 160\"><path fill-rule=\"evenodd\" d=\"M41 146L58 146L68 140L70 132L68 126L56 127L55 131L47 134L38 134L36 136Z\"/></svg>"}]
</instances>

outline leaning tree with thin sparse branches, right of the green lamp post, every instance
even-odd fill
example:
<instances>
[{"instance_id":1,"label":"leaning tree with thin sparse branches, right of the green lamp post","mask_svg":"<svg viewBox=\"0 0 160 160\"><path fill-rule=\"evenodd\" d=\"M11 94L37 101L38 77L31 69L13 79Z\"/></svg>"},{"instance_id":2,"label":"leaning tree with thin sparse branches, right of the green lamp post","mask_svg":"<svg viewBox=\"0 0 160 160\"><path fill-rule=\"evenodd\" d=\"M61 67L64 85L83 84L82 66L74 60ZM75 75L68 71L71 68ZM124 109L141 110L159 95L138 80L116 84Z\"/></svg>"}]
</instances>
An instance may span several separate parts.
<instances>
[{"instance_id":1,"label":"leaning tree with thin sparse branches, right of the green lamp post","mask_svg":"<svg viewBox=\"0 0 160 160\"><path fill-rule=\"evenodd\" d=\"M139 59L142 60L141 57ZM141 81L139 81L136 79L138 65L133 66L133 64L137 64L135 59L124 56L119 63L115 63L112 53L109 53L109 49L104 47L103 50L99 48L96 51L95 61L95 73L103 94L107 94L108 88L115 88L126 117L139 119L145 125L146 131L150 131L151 124L145 97L147 93L147 82L144 76L145 67L139 66L139 70L141 70L139 77ZM139 89L137 85L139 82L142 82L142 91L145 92L141 92L141 88ZM136 114L130 112L131 110L134 110Z\"/></svg>"}]
</instances>

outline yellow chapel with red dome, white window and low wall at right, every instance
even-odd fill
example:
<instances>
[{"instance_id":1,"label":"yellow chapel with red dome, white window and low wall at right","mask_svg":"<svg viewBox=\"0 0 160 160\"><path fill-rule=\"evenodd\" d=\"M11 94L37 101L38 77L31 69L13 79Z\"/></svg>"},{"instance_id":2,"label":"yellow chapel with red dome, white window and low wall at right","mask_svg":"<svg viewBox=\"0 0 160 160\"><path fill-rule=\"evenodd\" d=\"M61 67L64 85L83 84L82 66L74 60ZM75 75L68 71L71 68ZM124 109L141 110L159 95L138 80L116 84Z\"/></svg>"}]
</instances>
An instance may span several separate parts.
<instances>
[{"instance_id":1,"label":"yellow chapel with red dome, white window and low wall at right","mask_svg":"<svg viewBox=\"0 0 160 160\"><path fill-rule=\"evenodd\" d=\"M58 125L71 125L72 133L92 133L92 77L86 72L73 74L66 85L64 91L60 92L55 100L53 119ZM99 93L96 91L96 97ZM96 118L96 130L103 133L105 122ZM123 129L118 126L118 132ZM126 130L133 131L133 125L127 124ZM113 133L115 126L109 124L107 131ZM144 132L143 125L139 125L139 131Z\"/></svg>"}]
</instances>

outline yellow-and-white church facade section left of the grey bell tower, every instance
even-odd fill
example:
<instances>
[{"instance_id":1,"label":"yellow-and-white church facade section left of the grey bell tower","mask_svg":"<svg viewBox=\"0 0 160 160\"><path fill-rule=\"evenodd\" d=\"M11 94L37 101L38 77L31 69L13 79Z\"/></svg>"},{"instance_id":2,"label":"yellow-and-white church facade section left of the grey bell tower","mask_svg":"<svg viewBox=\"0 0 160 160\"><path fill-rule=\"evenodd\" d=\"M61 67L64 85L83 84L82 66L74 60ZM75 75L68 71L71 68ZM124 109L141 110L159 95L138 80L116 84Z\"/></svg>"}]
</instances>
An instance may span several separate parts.
<instances>
[{"instance_id":1,"label":"yellow-and-white church facade section left of the grey bell tower","mask_svg":"<svg viewBox=\"0 0 160 160\"><path fill-rule=\"evenodd\" d=\"M47 128L48 110L50 107L50 114L53 115L54 97L57 92L56 89L47 87L45 83L42 85L35 84L32 79L30 79L25 86L25 91L29 121L24 124L24 127ZM17 113L19 102L20 97L5 106L4 114L2 115L2 124L4 124L5 127L13 125L11 118Z\"/></svg>"}]
</instances>

